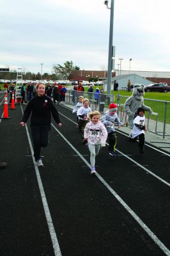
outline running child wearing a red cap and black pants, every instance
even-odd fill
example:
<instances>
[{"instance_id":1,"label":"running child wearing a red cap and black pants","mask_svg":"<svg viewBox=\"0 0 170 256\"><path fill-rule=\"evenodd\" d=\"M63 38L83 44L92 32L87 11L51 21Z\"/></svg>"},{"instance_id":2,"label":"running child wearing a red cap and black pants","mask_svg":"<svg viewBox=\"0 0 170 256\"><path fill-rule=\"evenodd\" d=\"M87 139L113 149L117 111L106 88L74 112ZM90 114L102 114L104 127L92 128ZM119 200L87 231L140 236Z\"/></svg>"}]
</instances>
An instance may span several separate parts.
<instances>
[{"instance_id":1,"label":"running child wearing a red cap and black pants","mask_svg":"<svg viewBox=\"0 0 170 256\"><path fill-rule=\"evenodd\" d=\"M116 156L115 148L116 148L116 133L114 128L114 122L118 124L118 128L121 127L120 118L116 114L118 107L115 103L111 103L109 105L109 110L104 113L102 116L101 122L105 125L107 129L108 138L109 138L109 155Z\"/></svg>"}]
</instances>

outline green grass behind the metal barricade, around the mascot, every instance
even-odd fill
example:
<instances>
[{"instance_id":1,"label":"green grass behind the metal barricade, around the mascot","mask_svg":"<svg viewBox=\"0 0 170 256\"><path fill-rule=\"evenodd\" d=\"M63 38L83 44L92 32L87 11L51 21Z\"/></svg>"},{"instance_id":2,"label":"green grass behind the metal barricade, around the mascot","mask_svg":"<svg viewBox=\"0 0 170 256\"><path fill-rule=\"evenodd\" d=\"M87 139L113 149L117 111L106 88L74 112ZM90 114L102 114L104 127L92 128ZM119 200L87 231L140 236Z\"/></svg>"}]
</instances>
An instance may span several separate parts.
<instances>
[{"instance_id":1,"label":"green grass behind the metal barricade, around the mascot","mask_svg":"<svg viewBox=\"0 0 170 256\"><path fill-rule=\"evenodd\" d=\"M118 91L114 92L114 99L117 102L117 94L120 93L121 96L128 96L132 95L132 92L125 92L125 91ZM153 99L153 100L146 100L146 99ZM126 97L120 97L120 104L124 104ZM164 100L170 101L170 93L160 93L160 92L146 92L144 93L144 104L149 106L153 112L158 113L158 121L164 122L164 113L165 113L165 102L157 102L154 100ZM167 103L167 113L166 113L166 123L170 124L170 103ZM147 114L146 114L147 116ZM156 116L151 115L151 119L155 120Z\"/></svg>"}]
</instances>

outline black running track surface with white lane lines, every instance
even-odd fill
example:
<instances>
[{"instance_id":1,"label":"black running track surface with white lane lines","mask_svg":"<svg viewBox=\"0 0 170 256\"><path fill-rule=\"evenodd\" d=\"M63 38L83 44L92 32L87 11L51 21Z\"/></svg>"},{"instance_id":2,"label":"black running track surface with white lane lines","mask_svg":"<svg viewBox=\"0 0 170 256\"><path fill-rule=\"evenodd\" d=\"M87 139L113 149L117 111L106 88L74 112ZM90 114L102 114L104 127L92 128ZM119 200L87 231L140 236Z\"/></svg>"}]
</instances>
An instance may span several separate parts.
<instances>
[{"instance_id":1,"label":"black running track surface with white lane lines","mask_svg":"<svg viewBox=\"0 0 170 256\"><path fill-rule=\"evenodd\" d=\"M0 123L1 159L8 162L0 173L0 255L170 255L169 154L152 147L138 154L120 129L117 156L102 148L92 177L75 116L57 106L63 127L52 120L38 170L29 122L19 125L26 106L16 108Z\"/></svg>"}]
</instances>

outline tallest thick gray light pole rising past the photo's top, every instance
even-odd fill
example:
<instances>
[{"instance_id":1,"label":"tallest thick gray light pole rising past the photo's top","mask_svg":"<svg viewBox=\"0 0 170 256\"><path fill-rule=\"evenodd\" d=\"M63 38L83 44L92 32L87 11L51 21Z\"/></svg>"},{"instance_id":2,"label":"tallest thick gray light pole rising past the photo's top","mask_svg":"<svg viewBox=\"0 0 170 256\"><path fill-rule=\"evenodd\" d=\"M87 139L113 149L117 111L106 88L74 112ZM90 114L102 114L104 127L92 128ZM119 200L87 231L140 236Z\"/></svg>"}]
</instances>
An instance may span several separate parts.
<instances>
[{"instance_id":1,"label":"tallest thick gray light pole rising past the photo's top","mask_svg":"<svg viewBox=\"0 0 170 256\"><path fill-rule=\"evenodd\" d=\"M111 0L111 8L108 7L108 1L104 1L107 9L111 10L110 16L110 31L109 31L109 54L108 54L108 66L107 66L107 94L111 94L112 83L112 36L113 36L113 21L114 21L114 0Z\"/></svg>"}]
</instances>

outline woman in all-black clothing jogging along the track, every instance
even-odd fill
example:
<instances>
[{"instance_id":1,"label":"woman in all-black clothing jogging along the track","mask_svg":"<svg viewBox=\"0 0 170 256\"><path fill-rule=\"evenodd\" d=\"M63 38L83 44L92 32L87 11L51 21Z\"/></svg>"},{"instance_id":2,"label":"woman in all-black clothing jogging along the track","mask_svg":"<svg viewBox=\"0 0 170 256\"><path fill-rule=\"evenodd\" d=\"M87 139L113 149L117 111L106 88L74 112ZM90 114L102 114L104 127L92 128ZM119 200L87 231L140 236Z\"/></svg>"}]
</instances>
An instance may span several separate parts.
<instances>
[{"instance_id":1,"label":"woman in all-black clothing jogging along the track","mask_svg":"<svg viewBox=\"0 0 170 256\"><path fill-rule=\"evenodd\" d=\"M31 136L34 144L34 157L36 166L43 166L40 156L41 147L47 147L49 143L49 131L51 123L51 113L58 124L61 127L61 121L59 119L58 111L54 107L54 104L50 97L45 95L45 84L38 83L36 85L36 97L30 100L27 108L24 111L24 115L20 122L20 125L24 127L31 115Z\"/></svg>"}]
</instances>

